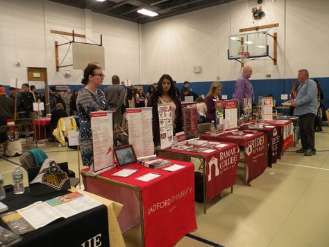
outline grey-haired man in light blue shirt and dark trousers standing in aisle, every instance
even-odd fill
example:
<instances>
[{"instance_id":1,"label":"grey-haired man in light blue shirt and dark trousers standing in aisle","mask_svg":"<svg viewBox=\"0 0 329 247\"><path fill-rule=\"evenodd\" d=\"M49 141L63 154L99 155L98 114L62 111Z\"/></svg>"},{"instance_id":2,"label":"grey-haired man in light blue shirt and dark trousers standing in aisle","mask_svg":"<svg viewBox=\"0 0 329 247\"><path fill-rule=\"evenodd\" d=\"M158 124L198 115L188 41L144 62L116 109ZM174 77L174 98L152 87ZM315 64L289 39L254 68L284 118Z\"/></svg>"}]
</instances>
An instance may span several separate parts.
<instances>
[{"instance_id":1,"label":"grey-haired man in light blue shirt and dark trousers standing in aisle","mask_svg":"<svg viewBox=\"0 0 329 247\"><path fill-rule=\"evenodd\" d=\"M308 71L298 70L298 81L301 84L297 88L297 97L292 102L295 107L294 115L298 115L299 134L302 147L298 153L305 156L316 154L314 142L314 118L317 115L317 83L310 79Z\"/></svg>"}]
</instances>

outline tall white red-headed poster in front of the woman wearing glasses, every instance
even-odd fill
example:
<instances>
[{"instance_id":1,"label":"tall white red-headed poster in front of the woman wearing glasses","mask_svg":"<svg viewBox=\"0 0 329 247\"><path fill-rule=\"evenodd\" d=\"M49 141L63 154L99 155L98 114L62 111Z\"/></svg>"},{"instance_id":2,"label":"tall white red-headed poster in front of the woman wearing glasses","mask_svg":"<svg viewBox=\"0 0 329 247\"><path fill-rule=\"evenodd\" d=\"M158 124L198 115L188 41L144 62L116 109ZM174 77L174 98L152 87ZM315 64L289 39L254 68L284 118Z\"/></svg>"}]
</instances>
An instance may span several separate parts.
<instances>
[{"instance_id":1,"label":"tall white red-headed poster in front of the woman wearing glasses","mask_svg":"<svg viewBox=\"0 0 329 247\"><path fill-rule=\"evenodd\" d=\"M112 111L90 113L94 164L90 171L97 175L115 167L113 163Z\"/></svg>"}]
</instances>

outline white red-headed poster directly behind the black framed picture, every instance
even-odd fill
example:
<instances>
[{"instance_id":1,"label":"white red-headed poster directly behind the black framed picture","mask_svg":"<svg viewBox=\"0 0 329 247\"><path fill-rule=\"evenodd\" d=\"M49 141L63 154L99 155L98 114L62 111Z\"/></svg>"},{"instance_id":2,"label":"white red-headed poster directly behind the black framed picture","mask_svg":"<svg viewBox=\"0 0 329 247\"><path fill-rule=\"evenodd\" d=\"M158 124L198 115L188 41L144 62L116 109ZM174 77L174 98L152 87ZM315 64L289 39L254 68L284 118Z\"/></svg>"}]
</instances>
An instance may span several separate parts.
<instances>
[{"instance_id":1,"label":"white red-headed poster directly behind the black framed picture","mask_svg":"<svg viewBox=\"0 0 329 247\"><path fill-rule=\"evenodd\" d=\"M126 110L129 144L133 145L137 157L154 154L152 132L152 107Z\"/></svg>"}]
</instances>

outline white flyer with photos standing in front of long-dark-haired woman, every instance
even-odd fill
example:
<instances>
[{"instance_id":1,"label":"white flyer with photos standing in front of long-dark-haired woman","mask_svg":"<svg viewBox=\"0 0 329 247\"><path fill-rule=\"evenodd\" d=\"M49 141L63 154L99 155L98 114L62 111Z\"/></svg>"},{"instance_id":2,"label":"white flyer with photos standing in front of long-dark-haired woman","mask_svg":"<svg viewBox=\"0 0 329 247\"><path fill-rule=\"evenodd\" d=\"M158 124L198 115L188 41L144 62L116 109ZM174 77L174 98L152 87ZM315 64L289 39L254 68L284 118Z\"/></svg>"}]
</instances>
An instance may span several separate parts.
<instances>
[{"instance_id":1,"label":"white flyer with photos standing in front of long-dark-haired woman","mask_svg":"<svg viewBox=\"0 0 329 247\"><path fill-rule=\"evenodd\" d=\"M169 148L174 144L173 119L171 106L158 104L159 129L160 129L160 149Z\"/></svg>"}]
</instances>

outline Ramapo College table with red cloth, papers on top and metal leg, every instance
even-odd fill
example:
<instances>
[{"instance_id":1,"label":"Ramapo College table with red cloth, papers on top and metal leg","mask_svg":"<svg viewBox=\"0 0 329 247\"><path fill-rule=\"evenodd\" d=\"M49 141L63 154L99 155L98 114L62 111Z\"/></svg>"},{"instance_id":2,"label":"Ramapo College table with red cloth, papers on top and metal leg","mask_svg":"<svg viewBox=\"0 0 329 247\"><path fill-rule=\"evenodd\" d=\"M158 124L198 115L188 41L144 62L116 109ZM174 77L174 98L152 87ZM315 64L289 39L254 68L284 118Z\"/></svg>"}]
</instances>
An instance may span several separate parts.
<instances>
[{"instance_id":1,"label":"Ramapo College table with red cloth, papers on top and metal leg","mask_svg":"<svg viewBox=\"0 0 329 247\"><path fill-rule=\"evenodd\" d=\"M158 151L159 157L170 158L180 154L186 157L202 159L203 169L203 209L206 213L205 202L221 194L225 189L232 188L237 178L237 164L239 163L239 146L234 143L206 142L201 145L201 152L196 152L196 145L192 150L177 150L167 148Z\"/></svg>"}]
</instances>

